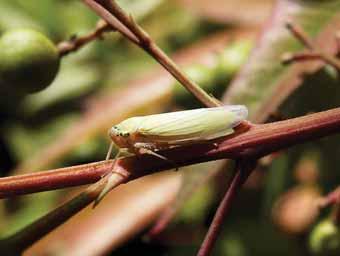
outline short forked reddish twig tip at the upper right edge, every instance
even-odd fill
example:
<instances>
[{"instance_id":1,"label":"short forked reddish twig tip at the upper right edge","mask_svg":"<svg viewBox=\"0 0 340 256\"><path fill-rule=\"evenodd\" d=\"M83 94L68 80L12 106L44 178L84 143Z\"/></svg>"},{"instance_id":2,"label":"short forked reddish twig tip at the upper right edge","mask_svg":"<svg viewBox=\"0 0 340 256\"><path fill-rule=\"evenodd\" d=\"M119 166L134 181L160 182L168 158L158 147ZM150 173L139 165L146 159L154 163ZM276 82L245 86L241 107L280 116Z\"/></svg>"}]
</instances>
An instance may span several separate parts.
<instances>
[{"instance_id":1,"label":"short forked reddish twig tip at the upper right edge","mask_svg":"<svg viewBox=\"0 0 340 256\"><path fill-rule=\"evenodd\" d=\"M298 39L304 46L307 47L307 49L309 50L309 53L291 54L290 59L288 59L288 56L285 55L284 57L285 63L290 63L290 62L299 61L299 60L306 60L306 59L316 59L316 57L318 57L319 60L323 60L327 64L333 66L338 72L340 72L340 60L336 56L326 53L325 51L320 49L308 37L305 31L302 28L298 27L296 24L287 23L287 28L295 36L296 39Z\"/></svg>"}]
</instances>

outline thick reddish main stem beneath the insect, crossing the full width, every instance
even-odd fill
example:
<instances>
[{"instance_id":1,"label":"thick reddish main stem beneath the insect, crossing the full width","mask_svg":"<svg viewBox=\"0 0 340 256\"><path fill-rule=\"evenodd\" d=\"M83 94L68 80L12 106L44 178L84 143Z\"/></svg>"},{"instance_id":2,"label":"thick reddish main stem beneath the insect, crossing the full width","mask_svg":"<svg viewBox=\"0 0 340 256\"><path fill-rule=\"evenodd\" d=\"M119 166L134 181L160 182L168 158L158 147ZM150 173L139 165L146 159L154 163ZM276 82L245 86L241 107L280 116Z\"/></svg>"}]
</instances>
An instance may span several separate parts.
<instances>
[{"instance_id":1,"label":"thick reddish main stem beneath the insect, crossing the full width","mask_svg":"<svg viewBox=\"0 0 340 256\"><path fill-rule=\"evenodd\" d=\"M172 148L160 153L181 167L217 159L264 156L289 146L340 132L340 108L284 121L252 125L212 144ZM54 190L93 183L110 170L112 162L98 162L57 170L0 178L0 197ZM150 155L126 157L117 172L131 173L129 180L173 169L173 164Z\"/></svg>"}]
</instances>

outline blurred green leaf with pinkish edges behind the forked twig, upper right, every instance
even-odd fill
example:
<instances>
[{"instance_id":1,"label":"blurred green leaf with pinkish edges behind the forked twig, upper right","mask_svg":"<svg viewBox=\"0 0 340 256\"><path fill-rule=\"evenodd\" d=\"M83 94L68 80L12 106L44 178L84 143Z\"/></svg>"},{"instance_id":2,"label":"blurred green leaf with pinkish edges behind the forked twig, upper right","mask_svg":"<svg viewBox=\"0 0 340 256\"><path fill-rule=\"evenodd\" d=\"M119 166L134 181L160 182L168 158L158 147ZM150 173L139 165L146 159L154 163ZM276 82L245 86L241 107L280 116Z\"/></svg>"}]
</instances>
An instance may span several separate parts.
<instances>
[{"instance_id":1,"label":"blurred green leaf with pinkish edges behind the forked twig, upper right","mask_svg":"<svg viewBox=\"0 0 340 256\"><path fill-rule=\"evenodd\" d=\"M225 95L225 102L245 104L251 120L265 121L301 84L301 76L315 72L321 65L315 62L281 63L284 53L304 48L285 24L293 22L301 26L311 38L322 44L325 51L334 52L335 24L340 23L339 12L340 2L336 0L279 0L249 62Z\"/></svg>"}]
</instances>

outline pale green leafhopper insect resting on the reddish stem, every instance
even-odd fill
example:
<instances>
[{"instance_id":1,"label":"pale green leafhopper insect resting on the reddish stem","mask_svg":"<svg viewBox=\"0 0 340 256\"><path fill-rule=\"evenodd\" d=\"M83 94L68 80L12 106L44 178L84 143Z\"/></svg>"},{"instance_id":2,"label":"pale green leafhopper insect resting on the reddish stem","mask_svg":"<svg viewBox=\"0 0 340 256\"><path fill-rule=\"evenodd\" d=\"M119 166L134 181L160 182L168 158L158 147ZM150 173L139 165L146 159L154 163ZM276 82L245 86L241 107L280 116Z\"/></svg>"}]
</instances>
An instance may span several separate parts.
<instances>
[{"instance_id":1,"label":"pale green leafhopper insect resting on the reddish stem","mask_svg":"<svg viewBox=\"0 0 340 256\"><path fill-rule=\"evenodd\" d=\"M125 151L152 154L169 161L156 152L230 135L247 115L245 106L229 105L128 118L110 129L112 143L106 159L109 159L115 144L119 147L116 158ZM109 185L106 186L98 201L110 189Z\"/></svg>"}]
</instances>

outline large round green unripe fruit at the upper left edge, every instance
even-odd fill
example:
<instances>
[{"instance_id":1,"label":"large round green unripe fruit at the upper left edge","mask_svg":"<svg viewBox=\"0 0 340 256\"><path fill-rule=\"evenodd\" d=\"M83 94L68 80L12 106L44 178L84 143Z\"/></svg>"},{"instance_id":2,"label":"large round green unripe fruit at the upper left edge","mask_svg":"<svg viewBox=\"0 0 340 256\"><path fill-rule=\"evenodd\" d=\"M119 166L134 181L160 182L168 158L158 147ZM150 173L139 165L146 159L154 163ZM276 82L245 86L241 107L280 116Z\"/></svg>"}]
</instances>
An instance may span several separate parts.
<instances>
[{"instance_id":1,"label":"large round green unripe fruit at the upper left edge","mask_svg":"<svg viewBox=\"0 0 340 256\"><path fill-rule=\"evenodd\" d=\"M15 29L0 37L0 90L27 94L46 88L59 70L57 47L43 34Z\"/></svg>"}]
</instances>

